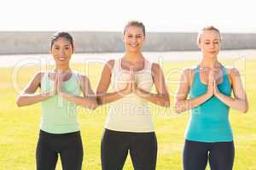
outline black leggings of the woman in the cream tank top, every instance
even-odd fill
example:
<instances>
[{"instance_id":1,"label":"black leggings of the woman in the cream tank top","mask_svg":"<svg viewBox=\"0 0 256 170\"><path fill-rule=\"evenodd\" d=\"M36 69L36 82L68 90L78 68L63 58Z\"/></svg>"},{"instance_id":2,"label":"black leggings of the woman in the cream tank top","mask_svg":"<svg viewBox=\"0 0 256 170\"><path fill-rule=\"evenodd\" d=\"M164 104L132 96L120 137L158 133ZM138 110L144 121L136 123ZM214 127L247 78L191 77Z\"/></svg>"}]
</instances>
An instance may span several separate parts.
<instances>
[{"instance_id":1,"label":"black leggings of the woman in the cream tank top","mask_svg":"<svg viewBox=\"0 0 256 170\"><path fill-rule=\"evenodd\" d=\"M130 150L135 170L155 170L155 133L126 133L105 129L102 136L102 170L121 170Z\"/></svg>"}]
</instances>

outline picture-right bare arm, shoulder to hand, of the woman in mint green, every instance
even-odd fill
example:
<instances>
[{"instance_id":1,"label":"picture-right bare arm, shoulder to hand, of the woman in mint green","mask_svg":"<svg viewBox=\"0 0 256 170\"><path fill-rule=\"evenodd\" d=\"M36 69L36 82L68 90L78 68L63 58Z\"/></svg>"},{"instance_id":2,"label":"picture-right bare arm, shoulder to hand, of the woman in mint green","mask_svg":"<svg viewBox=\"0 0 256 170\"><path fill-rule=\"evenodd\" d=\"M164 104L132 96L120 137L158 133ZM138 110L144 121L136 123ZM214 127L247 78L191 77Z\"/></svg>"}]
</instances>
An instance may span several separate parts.
<instances>
[{"instance_id":1,"label":"picture-right bare arm, shoulder to hand, of the woman in mint green","mask_svg":"<svg viewBox=\"0 0 256 170\"><path fill-rule=\"evenodd\" d=\"M61 80L59 79L59 82ZM76 96L73 94L67 94L61 89L61 83L58 86L58 89L60 90L58 93L68 101L74 102L76 105L82 105L84 107L90 108L90 109L96 109L96 96L91 89L90 86L90 80L85 76L79 75L79 82L80 82L80 88L83 92L84 97Z\"/></svg>"}]
</instances>

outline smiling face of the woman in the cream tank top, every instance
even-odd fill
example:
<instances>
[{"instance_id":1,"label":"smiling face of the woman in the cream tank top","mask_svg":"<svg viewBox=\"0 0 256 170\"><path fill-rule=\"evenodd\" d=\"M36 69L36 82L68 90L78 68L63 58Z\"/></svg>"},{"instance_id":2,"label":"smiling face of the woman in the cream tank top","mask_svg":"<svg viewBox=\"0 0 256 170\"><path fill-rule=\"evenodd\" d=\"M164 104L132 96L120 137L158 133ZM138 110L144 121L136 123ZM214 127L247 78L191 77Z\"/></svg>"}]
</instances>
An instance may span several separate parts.
<instances>
[{"instance_id":1,"label":"smiling face of the woman in the cream tank top","mask_svg":"<svg viewBox=\"0 0 256 170\"><path fill-rule=\"evenodd\" d=\"M143 28L139 26L127 26L123 40L127 52L140 52L145 40Z\"/></svg>"}]
</instances>

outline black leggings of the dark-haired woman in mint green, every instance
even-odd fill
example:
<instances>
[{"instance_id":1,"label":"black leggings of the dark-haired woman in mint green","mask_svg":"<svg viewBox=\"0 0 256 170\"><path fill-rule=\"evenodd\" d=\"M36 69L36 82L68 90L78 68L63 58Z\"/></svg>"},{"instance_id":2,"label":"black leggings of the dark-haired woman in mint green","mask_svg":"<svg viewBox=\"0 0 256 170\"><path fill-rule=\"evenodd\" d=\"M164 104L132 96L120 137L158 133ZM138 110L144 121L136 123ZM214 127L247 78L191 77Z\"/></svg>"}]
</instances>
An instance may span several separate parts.
<instances>
[{"instance_id":1,"label":"black leggings of the dark-haired woman in mint green","mask_svg":"<svg viewBox=\"0 0 256 170\"><path fill-rule=\"evenodd\" d=\"M37 169L55 170L58 154L63 170L81 170L83 145L80 132L54 134L40 130L37 147Z\"/></svg>"}]
</instances>

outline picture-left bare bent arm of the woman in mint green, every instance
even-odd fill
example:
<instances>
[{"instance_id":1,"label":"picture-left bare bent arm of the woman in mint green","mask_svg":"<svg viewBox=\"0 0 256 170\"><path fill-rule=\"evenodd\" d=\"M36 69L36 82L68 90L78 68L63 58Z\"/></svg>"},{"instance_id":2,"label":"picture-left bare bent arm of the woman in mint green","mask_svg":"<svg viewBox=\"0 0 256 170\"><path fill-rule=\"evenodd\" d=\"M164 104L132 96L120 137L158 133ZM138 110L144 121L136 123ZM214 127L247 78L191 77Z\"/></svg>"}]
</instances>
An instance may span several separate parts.
<instances>
[{"instance_id":1,"label":"picture-left bare bent arm of the woman in mint green","mask_svg":"<svg viewBox=\"0 0 256 170\"><path fill-rule=\"evenodd\" d=\"M44 73L38 72L34 77L32 77L31 82L29 82L27 87L20 93L16 101L19 107L36 104L55 95L56 91L35 94L40 86L42 74Z\"/></svg>"}]
</instances>

